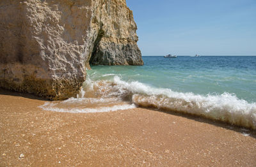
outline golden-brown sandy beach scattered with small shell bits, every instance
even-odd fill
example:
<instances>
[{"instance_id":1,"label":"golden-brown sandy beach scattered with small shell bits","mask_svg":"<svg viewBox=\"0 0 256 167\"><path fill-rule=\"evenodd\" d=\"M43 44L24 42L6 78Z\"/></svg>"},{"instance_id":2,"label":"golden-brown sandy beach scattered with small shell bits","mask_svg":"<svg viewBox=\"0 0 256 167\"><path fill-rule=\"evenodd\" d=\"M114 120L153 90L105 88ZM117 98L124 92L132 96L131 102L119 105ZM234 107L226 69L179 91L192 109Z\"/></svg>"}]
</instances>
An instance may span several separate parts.
<instances>
[{"instance_id":1,"label":"golden-brown sandy beach scattered with small shell bits","mask_svg":"<svg viewBox=\"0 0 256 167\"><path fill-rule=\"evenodd\" d=\"M44 103L0 89L0 166L256 166L255 131L145 108L47 112Z\"/></svg>"}]
</instances>

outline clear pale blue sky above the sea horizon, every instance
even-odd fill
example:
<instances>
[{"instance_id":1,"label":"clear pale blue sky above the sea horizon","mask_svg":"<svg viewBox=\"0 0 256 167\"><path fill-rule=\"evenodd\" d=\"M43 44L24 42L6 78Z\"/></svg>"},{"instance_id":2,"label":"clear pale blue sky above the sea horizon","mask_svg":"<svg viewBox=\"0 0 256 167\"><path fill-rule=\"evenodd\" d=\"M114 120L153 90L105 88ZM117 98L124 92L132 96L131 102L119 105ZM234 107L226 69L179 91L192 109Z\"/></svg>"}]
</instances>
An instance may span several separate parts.
<instances>
[{"instance_id":1,"label":"clear pale blue sky above the sea horizon","mask_svg":"<svg viewBox=\"0 0 256 167\"><path fill-rule=\"evenodd\" d=\"M126 0L142 55L256 55L256 0Z\"/></svg>"}]
</instances>

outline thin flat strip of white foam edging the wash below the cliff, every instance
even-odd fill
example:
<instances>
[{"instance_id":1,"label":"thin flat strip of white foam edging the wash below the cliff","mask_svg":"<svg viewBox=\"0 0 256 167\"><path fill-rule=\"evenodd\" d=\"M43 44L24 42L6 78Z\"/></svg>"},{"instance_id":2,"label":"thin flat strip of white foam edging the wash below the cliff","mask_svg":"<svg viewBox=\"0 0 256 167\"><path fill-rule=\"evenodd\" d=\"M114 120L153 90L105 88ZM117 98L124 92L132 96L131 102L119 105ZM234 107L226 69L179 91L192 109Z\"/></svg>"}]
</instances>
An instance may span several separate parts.
<instances>
[{"instance_id":1,"label":"thin flat strip of white foam edging the wash below the cliff","mask_svg":"<svg viewBox=\"0 0 256 167\"><path fill-rule=\"evenodd\" d=\"M99 113L99 112L115 112L118 110L127 110L135 108L134 104L132 105L115 105L110 107L99 107L99 108L59 108L56 107L56 103L46 102L44 105L39 106L43 110L52 111L52 112L67 112L67 113Z\"/></svg>"}]
</instances>

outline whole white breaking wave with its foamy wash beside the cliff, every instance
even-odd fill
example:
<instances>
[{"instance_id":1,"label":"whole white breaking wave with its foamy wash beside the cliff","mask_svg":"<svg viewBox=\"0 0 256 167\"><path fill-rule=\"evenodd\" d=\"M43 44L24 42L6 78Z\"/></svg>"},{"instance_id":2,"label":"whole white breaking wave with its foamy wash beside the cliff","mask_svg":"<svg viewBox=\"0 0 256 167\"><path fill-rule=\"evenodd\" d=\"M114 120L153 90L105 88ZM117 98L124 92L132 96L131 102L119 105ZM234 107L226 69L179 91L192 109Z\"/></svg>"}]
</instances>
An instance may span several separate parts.
<instances>
[{"instance_id":1,"label":"whole white breaking wave with its foamy wash beside the cliff","mask_svg":"<svg viewBox=\"0 0 256 167\"><path fill-rule=\"evenodd\" d=\"M121 79L121 76L113 74L97 76L97 79L93 78L95 75L97 74L93 73L91 76L87 76L77 98L61 102L61 105L76 103L80 105L79 107L84 105L86 108L72 108L71 110L60 108L54 103L45 103L41 108L55 112L90 113L126 110L141 106L189 113L256 129L256 103L238 99L236 94L225 92L204 96L192 92L175 92L171 89L154 88L136 81L126 82ZM88 107L88 104L95 103L97 103L97 108ZM113 106L102 104L112 104Z\"/></svg>"}]
</instances>

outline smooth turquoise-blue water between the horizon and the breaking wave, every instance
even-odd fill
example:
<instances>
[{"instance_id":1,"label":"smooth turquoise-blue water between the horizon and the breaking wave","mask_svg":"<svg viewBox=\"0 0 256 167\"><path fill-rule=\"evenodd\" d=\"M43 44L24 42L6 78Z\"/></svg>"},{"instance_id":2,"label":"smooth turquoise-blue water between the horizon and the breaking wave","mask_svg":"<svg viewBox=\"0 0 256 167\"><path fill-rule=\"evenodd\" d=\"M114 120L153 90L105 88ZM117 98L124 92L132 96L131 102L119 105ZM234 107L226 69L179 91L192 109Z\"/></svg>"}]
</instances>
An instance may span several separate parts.
<instances>
[{"instance_id":1,"label":"smooth turquoise-blue water between the horizon and the breaking wave","mask_svg":"<svg viewBox=\"0 0 256 167\"><path fill-rule=\"evenodd\" d=\"M88 75L97 79L120 76L126 82L138 81L156 88L194 94L235 94L256 102L256 57L247 56L163 56L143 57L144 66L92 66ZM108 76L106 76L108 75Z\"/></svg>"}]
</instances>

